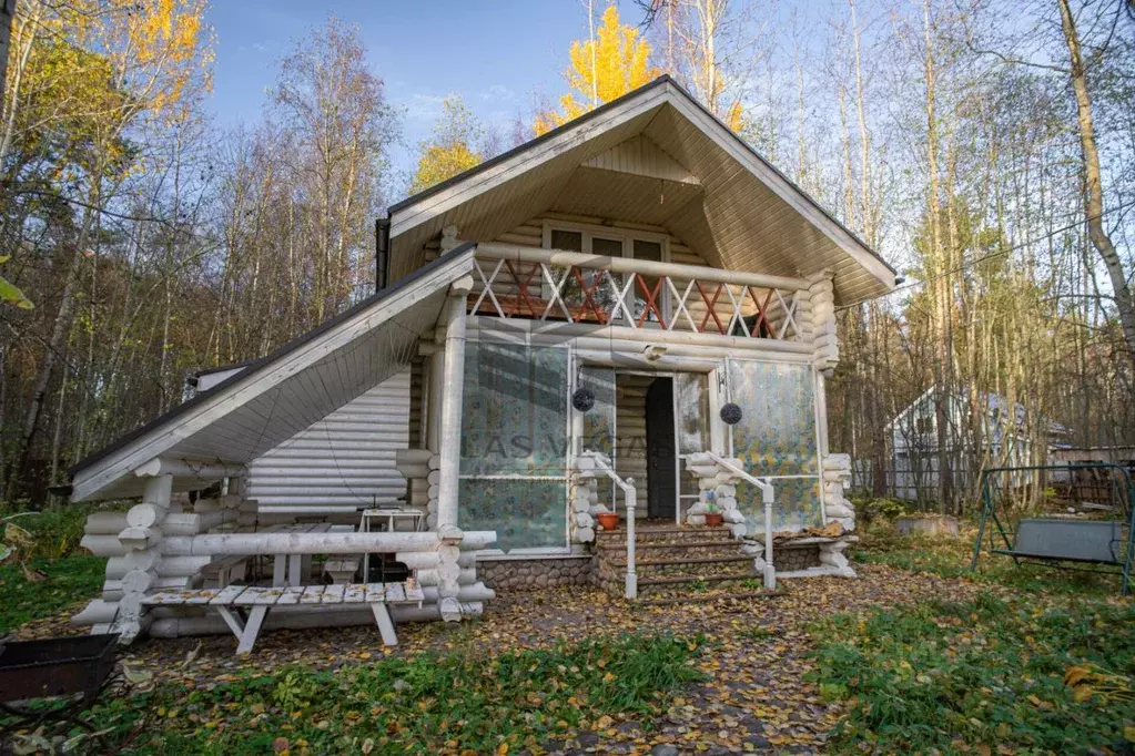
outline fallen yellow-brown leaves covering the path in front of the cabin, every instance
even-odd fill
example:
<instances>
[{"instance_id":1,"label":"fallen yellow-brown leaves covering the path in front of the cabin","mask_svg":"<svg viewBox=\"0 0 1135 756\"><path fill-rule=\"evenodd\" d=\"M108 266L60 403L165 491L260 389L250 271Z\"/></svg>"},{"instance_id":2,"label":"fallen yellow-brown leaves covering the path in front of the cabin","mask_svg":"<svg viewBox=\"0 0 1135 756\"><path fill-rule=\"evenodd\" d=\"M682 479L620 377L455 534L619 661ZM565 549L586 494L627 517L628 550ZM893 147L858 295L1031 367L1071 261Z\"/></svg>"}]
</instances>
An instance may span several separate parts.
<instances>
[{"instance_id":1,"label":"fallen yellow-brown leaves covering the path in front of the cabin","mask_svg":"<svg viewBox=\"0 0 1135 756\"><path fill-rule=\"evenodd\" d=\"M782 587L784 595L773 598L666 606L631 604L589 586L508 591L488 602L478 620L400 626L396 648L382 646L368 625L264 632L245 659L235 657L232 636L150 639L128 649L126 661L162 682L193 689L288 664L335 670L426 653L474 655L490 664L501 654L591 638L644 632L700 636L706 647L696 664L705 682L688 685L649 716L609 712L568 728L561 739L512 745L511 753L644 754L659 744L690 754L814 753L824 748L841 710L824 702L817 687L805 680L813 671L809 625L849 610L930 596L964 600L973 592L965 581L876 566L865 568L857 580L825 577ZM539 699L526 703L540 704ZM431 753L462 749L460 742L443 739ZM305 753L295 742L288 750Z\"/></svg>"}]
</instances>

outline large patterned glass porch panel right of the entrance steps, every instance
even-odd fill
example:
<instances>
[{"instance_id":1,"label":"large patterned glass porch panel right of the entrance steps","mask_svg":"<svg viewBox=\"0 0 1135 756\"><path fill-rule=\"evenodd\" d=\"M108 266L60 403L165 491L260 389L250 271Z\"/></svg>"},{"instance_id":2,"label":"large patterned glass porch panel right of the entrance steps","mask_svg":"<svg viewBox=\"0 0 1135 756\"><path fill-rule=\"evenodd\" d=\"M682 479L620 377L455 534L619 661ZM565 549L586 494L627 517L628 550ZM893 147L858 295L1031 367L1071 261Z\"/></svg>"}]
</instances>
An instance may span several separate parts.
<instances>
[{"instance_id":1,"label":"large patterned glass porch panel right of the entrance steps","mask_svg":"<svg viewBox=\"0 0 1135 756\"><path fill-rule=\"evenodd\" d=\"M741 422L732 428L733 456L753 475L773 478L777 529L822 521L814 385L808 365L730 363L730 397L741 408ZM749 527L763 530L756 486L739 486L738 502Z\"/></svg>"}]
</instances>

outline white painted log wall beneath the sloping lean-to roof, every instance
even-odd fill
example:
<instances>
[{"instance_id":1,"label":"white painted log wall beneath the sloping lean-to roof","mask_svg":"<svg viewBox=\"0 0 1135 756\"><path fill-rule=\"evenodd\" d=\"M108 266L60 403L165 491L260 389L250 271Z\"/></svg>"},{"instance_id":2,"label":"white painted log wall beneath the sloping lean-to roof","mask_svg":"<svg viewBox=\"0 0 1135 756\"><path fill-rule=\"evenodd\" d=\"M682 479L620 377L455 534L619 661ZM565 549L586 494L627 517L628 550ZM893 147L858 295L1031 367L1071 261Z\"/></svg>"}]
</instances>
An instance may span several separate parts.
<instances>
[{"instance_id":1,"label":"white painted log wall beneath the sloping lean-to roof","mask_svg":"<svg viewBox=\"0 0 1135 756\"><path fill-rule=\"evenodd\" d=\"M410 371L367 391L249 466L261 513L322 513L406 493L395 466L410 443Z\"/></svg>"}]
</instances>

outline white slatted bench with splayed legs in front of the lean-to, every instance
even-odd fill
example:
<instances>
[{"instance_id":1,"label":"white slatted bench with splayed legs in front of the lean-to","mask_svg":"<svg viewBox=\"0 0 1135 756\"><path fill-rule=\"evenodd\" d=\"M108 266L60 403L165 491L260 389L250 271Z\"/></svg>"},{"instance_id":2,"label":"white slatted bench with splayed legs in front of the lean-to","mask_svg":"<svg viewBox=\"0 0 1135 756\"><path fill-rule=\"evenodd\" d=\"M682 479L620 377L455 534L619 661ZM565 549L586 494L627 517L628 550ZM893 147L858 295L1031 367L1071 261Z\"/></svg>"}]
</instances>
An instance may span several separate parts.
<instances>
[{"instance_id":1,"label":"white slatted bench with splayed legs in front of the lean-to","mask_svg":"<svg viewBox=\"0 0 1135 756\"><path fill-rule=\"evenodd\" d=\"M353 583L350 585L280 586L263 588L230 585L225 588L160 591L146 596L146 606L208 606L216 609L236 636L237 654L247 654L257 643L264 617L274 606L369 604L387 646L398 645L387 604L418 604L426 595L421 587L406 591L404 583ZM247 612L243 618L241 612Z\"/></svg>"}]
</instances>

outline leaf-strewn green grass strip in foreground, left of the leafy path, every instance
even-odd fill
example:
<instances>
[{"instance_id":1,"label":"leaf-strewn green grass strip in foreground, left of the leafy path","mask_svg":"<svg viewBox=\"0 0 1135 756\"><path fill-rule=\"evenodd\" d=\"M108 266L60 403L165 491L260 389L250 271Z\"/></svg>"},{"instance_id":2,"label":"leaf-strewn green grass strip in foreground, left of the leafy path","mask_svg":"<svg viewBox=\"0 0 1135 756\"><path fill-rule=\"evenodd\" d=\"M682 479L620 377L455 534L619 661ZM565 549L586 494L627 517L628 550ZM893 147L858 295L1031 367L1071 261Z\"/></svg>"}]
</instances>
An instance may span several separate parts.
<instances>
[{"instance_id":1,"label":"leaf-strewn green grass strip in foreground, left of the leafy path","mask_svg":"<svg viewBox=\"0 0 1135 756\"><path fill-rule=\"evenodd\" d=\"M421 654L337 671L285 668L212 689L161 687L90 715L111 739L146 712L132 753L515 753L590 727L603 715L646 716L700 679L700 639L629 635L550 651ZM160 734L151 737L151 731ZM367 745L369 742L369 746Z\"/></svg>"}]
</instances>

